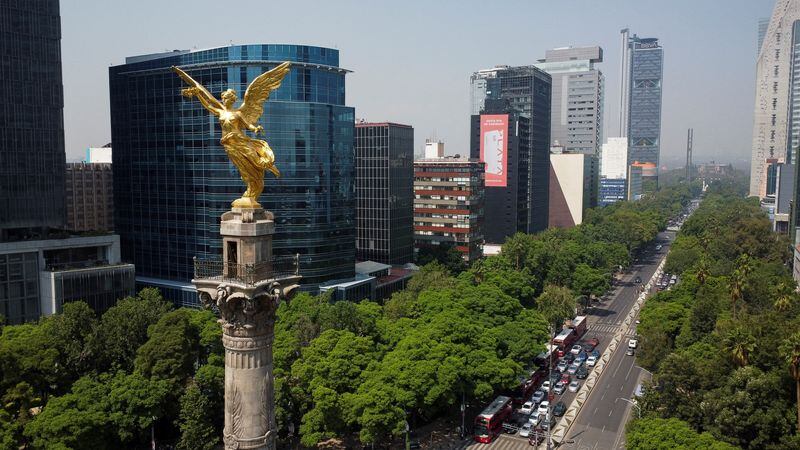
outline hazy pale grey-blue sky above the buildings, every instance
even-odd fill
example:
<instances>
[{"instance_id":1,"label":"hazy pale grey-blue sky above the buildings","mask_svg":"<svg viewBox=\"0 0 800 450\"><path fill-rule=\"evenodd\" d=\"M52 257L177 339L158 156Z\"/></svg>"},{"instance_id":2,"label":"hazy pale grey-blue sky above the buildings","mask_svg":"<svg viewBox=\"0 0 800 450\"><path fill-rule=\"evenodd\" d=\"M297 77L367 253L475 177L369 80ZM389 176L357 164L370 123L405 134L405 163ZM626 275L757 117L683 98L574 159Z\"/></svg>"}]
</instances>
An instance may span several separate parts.
<instances>
[{"instance_id":1,"label":"hazy pale grey-blue sky above the buildings","mask_svg":"<svg viewBox=\"0 0 800 450\"><path fill-rule=\"evenodd\" d=\"M604 137L618 129L619 30L664 47L662 162L747 165L757 21L774 0L206 1L61 0L67 158L111 139L108 67L126 56L255 43L337 48L356 117L414 127L469 152L469 76L547 49L600 45Z\"/></svg>"}]
</instances>

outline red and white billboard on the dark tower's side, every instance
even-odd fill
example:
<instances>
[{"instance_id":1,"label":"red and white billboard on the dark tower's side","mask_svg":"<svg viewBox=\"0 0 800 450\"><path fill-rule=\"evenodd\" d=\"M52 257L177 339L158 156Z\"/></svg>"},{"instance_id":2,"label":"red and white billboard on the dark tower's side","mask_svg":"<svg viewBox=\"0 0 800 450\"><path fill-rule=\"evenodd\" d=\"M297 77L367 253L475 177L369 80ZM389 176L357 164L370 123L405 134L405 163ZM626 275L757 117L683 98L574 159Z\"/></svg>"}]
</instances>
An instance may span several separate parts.
<instances>
[{"instance_id":1,"label":"red and white billboard on the dark tower's side","mask_svg":"<svg viewBox=\"0 0 800 450\"><path fill-rule=\"evenodd\" d=\"M481 115L481 161L486 164L486 186L506 187L508 171L508 114Z\"/></svg>"}]
</instances>

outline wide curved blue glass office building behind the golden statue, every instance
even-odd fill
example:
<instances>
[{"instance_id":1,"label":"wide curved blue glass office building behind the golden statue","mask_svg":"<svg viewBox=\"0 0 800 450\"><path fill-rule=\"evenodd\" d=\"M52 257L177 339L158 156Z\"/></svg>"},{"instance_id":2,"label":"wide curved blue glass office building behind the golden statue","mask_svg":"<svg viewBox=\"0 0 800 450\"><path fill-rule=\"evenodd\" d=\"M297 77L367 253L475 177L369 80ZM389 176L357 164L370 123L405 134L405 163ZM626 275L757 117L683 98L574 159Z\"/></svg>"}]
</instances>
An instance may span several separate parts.
<instances>
[{"instance_id":1,"label":"wide curved blue glass office building behind the golden statue","mask_svg":"<svg viewBox=\"0 0 800 450\"><path fill-rule=\"evenodd\" d=\"M275 214L276 255L300 254L304 289L352 277L355 268L353 108L345 106L339 51L238 45L127 58L109 69L114 143L114 222L137 282L195 305L192 258L220 255L220 215L244 192L219 143L220 126L181 96L180 66L219 97L239 99L282 61L292 69L260 125L282 177L266 175L261 205Z\"/></svg>"}]
</instances>

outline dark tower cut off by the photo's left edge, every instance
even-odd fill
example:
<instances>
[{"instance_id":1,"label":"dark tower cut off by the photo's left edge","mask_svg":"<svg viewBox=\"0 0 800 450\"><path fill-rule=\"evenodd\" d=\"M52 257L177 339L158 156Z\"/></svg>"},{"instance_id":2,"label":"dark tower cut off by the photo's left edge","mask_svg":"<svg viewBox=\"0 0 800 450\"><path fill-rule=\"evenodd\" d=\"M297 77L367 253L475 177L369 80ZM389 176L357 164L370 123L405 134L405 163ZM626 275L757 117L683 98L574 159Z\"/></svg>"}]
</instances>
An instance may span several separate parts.
<instances>
[{"instance_id":1,"label":"dark tower cut off by the photo's left edge","mask_svg":"<svg viewBox=\"0 0 800 450\"><path fill-rule=\"evenodd\" d=\"M65 218L58 0L0 0L0 242Z\"/></svg>"}]
</instances>

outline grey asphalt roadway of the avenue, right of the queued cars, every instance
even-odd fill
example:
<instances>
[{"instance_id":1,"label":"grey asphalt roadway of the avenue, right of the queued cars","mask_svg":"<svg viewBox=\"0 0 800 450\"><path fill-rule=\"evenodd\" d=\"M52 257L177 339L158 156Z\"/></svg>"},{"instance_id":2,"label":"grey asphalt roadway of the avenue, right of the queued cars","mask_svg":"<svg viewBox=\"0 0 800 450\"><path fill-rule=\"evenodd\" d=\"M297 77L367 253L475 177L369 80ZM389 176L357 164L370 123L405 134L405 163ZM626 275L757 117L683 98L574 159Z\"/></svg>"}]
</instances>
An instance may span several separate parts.
<instances>
[{"instance_id":1,"label":"grey asphalt roadway of the avenue, right of the queued cars","mask_svg":"<svg viewBox=\"0 0 800 450\"><path fill-rule=\"evenodd\" d=\"M666 237L669 236L669 240ZM645 254L642 260L633 267L625 281L630 281L637 275L646 283L655 273L661 259L669 251L669 244L675 238L674 232L664 232L658 237L661 251L655 251L655 244L650 253ZM613 301L603 308L597 321L590 322L591 329L609 329L616 332L633 307L638 294L638 285L626 283L619 290ZM611 355L608 365L600 376L597 384L581 408L575 423L567 434L567 441L562 448L576 450L616 450L625 448L625 424L631 414L631 408L636 408L621 399L631 399L636 385L643 377L649 376L647 371L636 366L636 358L625 355L627 341L635 334L631 329L628 335L620 342L614 354ZM610 337L610 336L609 336ZM634 411L634 414L637 412Z\"/></svg>"}]
</instances>

